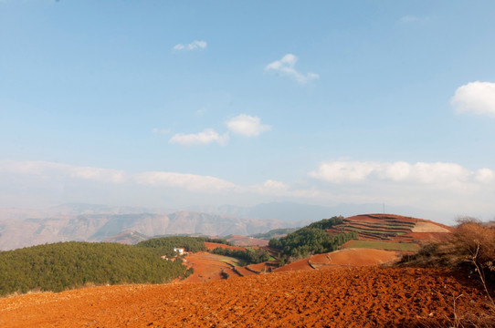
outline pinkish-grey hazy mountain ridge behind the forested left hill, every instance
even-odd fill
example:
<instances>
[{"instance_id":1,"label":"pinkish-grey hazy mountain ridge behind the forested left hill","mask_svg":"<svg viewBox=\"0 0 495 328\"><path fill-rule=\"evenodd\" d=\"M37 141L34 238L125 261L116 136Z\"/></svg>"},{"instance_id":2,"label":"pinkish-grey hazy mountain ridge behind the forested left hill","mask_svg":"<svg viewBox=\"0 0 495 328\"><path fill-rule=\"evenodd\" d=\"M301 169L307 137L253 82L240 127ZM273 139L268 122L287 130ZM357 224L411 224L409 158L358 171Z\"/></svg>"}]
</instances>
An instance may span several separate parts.
<instances>
[{"instance_id":1,"label":"pinkish-grey hazy mountain ridge behind the forested left hill","mask_svg":"<svg viewBox=\"0 0 495 328\"><path fill-rule=\"evenodd\" d=\"M169 214L79 214L50 218L0 220L0 250L57 241L103 241L122 231L164 234L249 235L300 226L300 221L248 220L193 211Z\"/></svg>"}]
</instances>

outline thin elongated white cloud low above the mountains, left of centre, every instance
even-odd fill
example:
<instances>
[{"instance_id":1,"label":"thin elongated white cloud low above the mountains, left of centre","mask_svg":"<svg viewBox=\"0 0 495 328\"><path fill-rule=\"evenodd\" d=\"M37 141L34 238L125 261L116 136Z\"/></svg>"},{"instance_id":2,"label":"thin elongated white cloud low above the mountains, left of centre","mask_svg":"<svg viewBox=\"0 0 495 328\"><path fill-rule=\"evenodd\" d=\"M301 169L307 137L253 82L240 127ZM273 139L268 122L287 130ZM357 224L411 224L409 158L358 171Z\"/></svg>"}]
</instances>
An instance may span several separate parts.
<instances>
[{"instance_id":1,"label":"thin elongated white cloud low above the mountains, left of centre","mask_svg":"<svg viewBox=\"0 0 495 328\"><path fill-rule=\"evenodd\" d=\"M143 172L134 176L138 184L148 186L177 187L185 190L233 190L236 185L224 179L175 172Z\"/></svg>"}]
</instances>

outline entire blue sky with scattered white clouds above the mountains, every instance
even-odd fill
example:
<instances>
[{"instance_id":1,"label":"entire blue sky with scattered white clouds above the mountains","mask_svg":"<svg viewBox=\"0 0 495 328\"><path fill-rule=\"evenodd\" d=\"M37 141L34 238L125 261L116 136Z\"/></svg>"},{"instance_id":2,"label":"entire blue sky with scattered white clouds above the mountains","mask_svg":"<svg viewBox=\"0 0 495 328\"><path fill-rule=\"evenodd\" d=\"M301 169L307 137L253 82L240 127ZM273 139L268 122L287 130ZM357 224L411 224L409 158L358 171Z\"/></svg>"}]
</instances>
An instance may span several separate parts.
<instances>
[{"instance_id":1,"label":"entire blue sky with scattered white clouds above the mountains","mask_svg":"<svg viewBox=\"0 0 495 328\"><path fill-rule=\"evenodd\" d=\"M493 17L491 0L0 0L0 207L493 220Z\"/></svg>"}]
</instances>

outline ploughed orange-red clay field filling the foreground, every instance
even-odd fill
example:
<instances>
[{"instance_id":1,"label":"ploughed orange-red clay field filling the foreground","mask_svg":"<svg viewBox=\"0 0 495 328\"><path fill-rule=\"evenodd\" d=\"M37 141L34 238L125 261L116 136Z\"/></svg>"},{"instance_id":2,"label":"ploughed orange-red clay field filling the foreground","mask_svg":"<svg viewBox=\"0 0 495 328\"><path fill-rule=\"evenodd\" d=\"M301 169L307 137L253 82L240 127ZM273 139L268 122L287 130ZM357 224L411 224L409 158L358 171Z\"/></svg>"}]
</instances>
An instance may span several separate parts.
<instances>
[{"instance_id":1,"label":"ploughed orange-red clay field filling the foreground","mask_svg":"<svg viewBox=\"0 0 495 328\"><path fill-rule=\"evenodd\" d=\"M480 317L472 281L432 269L278 272L0 299L2 327L416 327Z\"/></svg>"}]
</instances>

